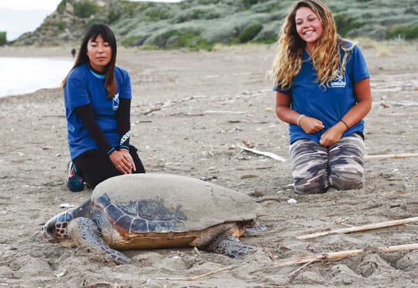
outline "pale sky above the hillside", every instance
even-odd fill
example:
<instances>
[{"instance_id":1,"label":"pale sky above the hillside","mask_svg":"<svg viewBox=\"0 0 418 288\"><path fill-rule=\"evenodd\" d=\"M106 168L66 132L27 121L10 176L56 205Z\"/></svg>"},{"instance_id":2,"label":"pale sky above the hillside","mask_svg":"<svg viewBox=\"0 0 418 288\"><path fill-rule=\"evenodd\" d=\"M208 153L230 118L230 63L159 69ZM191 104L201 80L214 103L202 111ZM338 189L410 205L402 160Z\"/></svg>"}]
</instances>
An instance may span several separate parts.
<instances>
[{"instance_id":1,"label":"pale sky above the hillside","mask_svg":"<svg viewBox=\"0 0 418 288\"><path fill-rule=\"evenodd\" d=\"M154 2L179 1L181 0L154 0ZM35 31L45 17L56 10L60 2L61 0L0 0L0 31L6 31L8 41L15 40L23 33ZM28 13L27 10L36 10L36 12Z\"/></svg>"}]
</instances>

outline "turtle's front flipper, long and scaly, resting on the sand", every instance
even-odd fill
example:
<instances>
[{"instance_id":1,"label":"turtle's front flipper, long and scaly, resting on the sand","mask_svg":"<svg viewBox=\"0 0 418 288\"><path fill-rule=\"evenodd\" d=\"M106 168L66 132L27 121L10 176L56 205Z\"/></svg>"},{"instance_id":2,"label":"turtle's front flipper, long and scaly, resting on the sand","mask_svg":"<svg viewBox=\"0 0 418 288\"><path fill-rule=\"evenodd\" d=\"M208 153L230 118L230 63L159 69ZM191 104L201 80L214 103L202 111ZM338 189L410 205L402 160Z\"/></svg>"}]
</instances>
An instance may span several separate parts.
<instances>
[{"instance_id":1,"label":"turtle's front flipper, long and scaly, resting on the sand","mask_svg":"<svg viewBox=\"0 0 418 288\"><path fill-rule=\"evenodd\" d=\"M117 264L129 264L131 260L118 250L110 248L104 242L100 229L94 221L89 218L79 217L70 222L68 230L73 238L79 243L87 242L103 250Z\"/></svg>"}]
</instances>

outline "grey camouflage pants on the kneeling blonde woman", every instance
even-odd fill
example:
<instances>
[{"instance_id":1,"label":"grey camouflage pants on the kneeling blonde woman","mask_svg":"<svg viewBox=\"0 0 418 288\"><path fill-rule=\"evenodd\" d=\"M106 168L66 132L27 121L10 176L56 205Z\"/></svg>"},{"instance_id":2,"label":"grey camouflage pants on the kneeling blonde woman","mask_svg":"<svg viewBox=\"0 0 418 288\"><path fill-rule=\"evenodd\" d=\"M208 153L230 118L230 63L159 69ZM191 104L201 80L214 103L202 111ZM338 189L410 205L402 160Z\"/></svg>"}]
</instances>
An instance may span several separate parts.
<instances>
[{"instance_id":1,"label":"grey camouflage pants on the kneeling blonde woman","mask_svg":"<svg viewBox=\"0 0 418 288\"><path fill-rule=\"evenodd\" d=\"M289 148L297 194L360 189L364 185L364 141L358 134L341 138L330 147L300 139Z\"/></svg>"}]
</instances>

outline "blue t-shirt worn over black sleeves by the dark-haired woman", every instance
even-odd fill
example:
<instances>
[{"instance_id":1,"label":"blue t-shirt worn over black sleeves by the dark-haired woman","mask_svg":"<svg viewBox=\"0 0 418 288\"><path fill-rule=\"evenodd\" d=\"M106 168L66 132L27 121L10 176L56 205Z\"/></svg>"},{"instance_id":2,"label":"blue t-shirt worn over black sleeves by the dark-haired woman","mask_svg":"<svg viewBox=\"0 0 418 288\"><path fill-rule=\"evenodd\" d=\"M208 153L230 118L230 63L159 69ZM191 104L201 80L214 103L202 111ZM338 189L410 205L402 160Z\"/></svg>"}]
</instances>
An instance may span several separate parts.
<instances>
[{"instance_id":1,"label":"blue t-shirt worn over black sleeves by the dark-haired woman","mask_svg":"<svg viewBox=\"0 0 418 288\"><path fill-rule=\"evenodd\" d=\"M119 98L132 98L130 76L121 67L115 67L116 94L108 98L104 74L97 74L87 64L75 67L68 75L64 86L65 117L67 118L68 145L70 157L75 159L87 150L98 149L91 134L81 118L75 113L75 107L91 104L95 122L102 129L112 147L118 147L121 139L117 129L116 111Z\"/></svg>"}]
</instances>

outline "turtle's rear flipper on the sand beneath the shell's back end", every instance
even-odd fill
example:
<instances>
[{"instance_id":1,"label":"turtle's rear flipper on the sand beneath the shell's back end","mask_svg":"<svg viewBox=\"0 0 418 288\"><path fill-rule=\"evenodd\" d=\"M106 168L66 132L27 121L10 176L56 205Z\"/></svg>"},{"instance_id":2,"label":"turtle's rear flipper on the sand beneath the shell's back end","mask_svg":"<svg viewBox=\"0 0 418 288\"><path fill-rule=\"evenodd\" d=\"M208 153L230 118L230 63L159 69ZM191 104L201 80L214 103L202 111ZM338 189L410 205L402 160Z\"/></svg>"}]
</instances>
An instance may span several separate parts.
<instances>
[{"instance_id":1,"label":"turtle's rear flipper on the sand beneath the shell's back end","mask_svg":"<svg viewBox=\"0 0 418 288\"><path fill-rule=\"evenodd\" d=\"M249 250L254 249L251 246L245 245L238 238L231 236L231 234L224 233L219 235L214 241L206 246L213 252L224 254L231 258L242 257Z\"/></svg>"}]
</instances>

